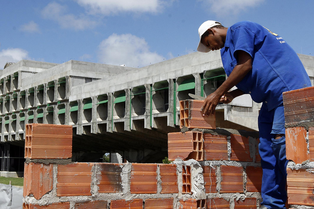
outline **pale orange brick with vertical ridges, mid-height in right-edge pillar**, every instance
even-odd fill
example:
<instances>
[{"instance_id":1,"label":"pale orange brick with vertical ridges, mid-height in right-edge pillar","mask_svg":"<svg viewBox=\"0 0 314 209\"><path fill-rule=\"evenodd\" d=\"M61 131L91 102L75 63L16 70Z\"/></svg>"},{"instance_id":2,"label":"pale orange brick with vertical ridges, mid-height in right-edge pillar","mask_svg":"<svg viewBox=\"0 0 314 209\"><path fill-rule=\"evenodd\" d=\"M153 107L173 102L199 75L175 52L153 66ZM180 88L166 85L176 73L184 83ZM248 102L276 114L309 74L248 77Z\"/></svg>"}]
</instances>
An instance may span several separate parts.
<instances>
[{"instance_id":1,"label":"pale orange brick with vertical ridges, mid-height in right-edge pillar","mask_svg":"<svg viewBox=\"0 0 314 209\"><path fill-rule=\"evenodd\" d=\"M309 159L306 143L306 129L304 127L286 128L286 155L287 159L296 164Z\"/></svg>"}]
</instances>

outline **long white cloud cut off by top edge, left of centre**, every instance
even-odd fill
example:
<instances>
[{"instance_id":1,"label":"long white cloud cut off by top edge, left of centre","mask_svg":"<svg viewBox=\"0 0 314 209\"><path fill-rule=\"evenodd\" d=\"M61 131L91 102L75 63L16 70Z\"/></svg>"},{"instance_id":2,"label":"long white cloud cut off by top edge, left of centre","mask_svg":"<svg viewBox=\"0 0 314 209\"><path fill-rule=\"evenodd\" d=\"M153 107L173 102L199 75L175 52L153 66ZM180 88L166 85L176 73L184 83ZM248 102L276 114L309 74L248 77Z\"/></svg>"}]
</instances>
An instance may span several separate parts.
<instances>
[{"instance_id":1,"label":"long white cloud cut off by top edge, left of centre","mask_svg":"<svg viewBox=\"0 0 314 209\"><path fill-rule=\"evenodd\" d=\"M116 14L121 12L157 13L172 1L165 0L76 0L91 14Z\"/></svg>"}]
</instances>

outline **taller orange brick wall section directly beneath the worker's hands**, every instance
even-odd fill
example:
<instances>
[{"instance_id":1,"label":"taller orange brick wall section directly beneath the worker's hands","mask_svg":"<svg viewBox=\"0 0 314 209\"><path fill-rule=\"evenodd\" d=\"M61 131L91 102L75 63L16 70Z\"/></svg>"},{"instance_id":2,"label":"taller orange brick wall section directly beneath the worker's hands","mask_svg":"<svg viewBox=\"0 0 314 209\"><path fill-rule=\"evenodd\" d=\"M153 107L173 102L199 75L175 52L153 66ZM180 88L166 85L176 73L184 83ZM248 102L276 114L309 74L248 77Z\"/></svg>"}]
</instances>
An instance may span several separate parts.
<instances>
[{"instance_id":1,"label":"taller orange brick wall section directly beneath the worker's hands","mask_svg":"<svg viewBox=\"0 0 314 209\"><path fill-rule=\"evenodd\" d=\"M216 128L203 101L180 101L181 132L168 134L182 208L258 208L263 171L258 132ZM185 201L184 201L185 200Z\"/></svg>"}]
</instances>

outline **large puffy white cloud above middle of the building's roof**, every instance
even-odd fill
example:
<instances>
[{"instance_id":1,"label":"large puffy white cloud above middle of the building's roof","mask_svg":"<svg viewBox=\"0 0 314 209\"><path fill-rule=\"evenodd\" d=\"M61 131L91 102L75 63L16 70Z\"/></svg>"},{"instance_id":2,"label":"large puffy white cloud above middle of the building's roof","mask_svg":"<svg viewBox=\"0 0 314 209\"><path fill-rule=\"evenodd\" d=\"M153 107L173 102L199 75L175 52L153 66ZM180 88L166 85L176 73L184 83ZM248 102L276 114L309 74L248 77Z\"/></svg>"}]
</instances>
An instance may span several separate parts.
<instances>
[{"instance_id":1,"label":"large puffy white cloud above middle of the building's roof","mask_svg":"<svg viewBox=\"0 0 314 209\"><path fill-rule=\"evenodd\" d=\"M149 51L145 39L132 34L112 34L99 44L98 60L109 65L143 67L163 61L164 57Z\"/></svg>"}]
</instances>

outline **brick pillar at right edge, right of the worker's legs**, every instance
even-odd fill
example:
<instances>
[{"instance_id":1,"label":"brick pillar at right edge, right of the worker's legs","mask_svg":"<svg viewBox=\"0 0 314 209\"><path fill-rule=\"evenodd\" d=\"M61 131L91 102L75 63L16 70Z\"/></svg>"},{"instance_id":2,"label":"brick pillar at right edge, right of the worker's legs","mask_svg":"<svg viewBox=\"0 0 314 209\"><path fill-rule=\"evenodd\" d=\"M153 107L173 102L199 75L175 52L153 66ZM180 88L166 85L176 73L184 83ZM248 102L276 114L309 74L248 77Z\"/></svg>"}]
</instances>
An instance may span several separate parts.
<instances>
[{"instance_id":1,"label":"brick pillar at right edge, right of the worker's legs","mask_svg":"<svg viewBox=\"0 0 314 209\"><path fill-rule=\"evenodd\" d=\"M283 93L288 203L314 207L314 87ZM308 206L308 207L307 207Z\"/></svg>"}]
</instances>

